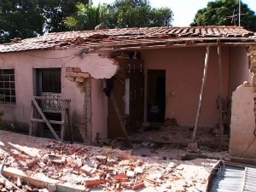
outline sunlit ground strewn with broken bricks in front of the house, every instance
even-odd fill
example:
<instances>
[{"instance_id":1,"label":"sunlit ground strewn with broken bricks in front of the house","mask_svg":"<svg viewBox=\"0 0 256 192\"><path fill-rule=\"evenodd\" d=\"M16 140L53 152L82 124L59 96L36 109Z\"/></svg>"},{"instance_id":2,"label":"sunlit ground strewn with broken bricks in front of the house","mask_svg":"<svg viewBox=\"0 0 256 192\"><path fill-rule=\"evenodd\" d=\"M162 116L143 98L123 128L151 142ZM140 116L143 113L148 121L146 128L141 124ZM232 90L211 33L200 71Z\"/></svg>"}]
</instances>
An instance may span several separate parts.
<instances>
[{"instance_id":1,"label":"sunlit ground strewn with broken bricks in front of the house","mask_svg":"<svg viewBox=\"0 0 256 192\"><path fill-rule=\"evenodd\" d=\"M3 176L15 184L20 178L23 191L195 192L206 191L212 167L229 158L227 151L200 145L196 154L206 159L184 160L191 154L184 144L137 141L125 150L120 150L122 143L113 146L59 143L0 131L0 162L7 155Z\"/></svg>"}]
</instances>

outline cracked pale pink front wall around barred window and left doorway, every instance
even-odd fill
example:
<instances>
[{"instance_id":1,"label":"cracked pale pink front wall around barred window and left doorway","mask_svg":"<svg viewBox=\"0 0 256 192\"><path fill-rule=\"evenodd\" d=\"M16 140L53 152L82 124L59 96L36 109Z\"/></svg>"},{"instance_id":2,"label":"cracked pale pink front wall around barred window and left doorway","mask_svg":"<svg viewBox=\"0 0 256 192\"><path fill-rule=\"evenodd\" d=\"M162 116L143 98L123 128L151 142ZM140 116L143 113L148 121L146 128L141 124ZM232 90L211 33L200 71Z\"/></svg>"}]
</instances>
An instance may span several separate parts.
<instances>
[{"instance_id":1,"label":"cracked pale pink front wall around barred window and left doorway","mask_svg":"<svg viewBox=\"0 0 256 192\"><path fill-rule=\"evenodd\" d=\"M82 72L90 73L92 78L96 79L110 78L117 68L116 65L113 65L113 61L108 58L101 57L97 54L81 54L81 51L82 49L70 48L1 54L0 68L15 68L16 92L15 104L0 104L5 113L3 120L24 124L27 128L32 112L32 96L34 96L35 77L33 77L33 69L60 67L61 96L71 99L73 128L79 134L79 129L76 125L79 125L83 115L84 88L83 86L78 86L77 82L72 82L65 78L66 67L79 67ZM102 105L104 105L104 102L106 100L102 101ZM99 113L99 118L100 115L104 114L102 109L100 111L97 111L99 108L92 110L94 113ZM92 119L91 129L94 129L94 125L98 125L98 119L96 118ZM107 123L102 121L102 127L107 127Z\"/></svg>"}]
</instances>

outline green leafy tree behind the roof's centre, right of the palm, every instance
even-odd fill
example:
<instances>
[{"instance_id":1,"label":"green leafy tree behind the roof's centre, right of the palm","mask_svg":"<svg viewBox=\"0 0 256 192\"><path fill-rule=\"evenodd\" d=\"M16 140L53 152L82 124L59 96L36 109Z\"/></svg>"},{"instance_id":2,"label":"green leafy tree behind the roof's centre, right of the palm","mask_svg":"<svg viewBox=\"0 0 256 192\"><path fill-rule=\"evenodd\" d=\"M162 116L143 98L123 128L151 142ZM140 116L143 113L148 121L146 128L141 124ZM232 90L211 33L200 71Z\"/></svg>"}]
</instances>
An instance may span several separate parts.
<instances>
[{"instance_id":1,"label":"green leafy tree behind the roof's centre, right of the palm","mask_svg":"<svg viewBox=\"0 0 256 192\"><path fill-rule=\"evenodd\" d=\"M172 10L154 9L148 0L116 0L109 6L109 27L171 26Z\"/></svg>"}]
</instances>

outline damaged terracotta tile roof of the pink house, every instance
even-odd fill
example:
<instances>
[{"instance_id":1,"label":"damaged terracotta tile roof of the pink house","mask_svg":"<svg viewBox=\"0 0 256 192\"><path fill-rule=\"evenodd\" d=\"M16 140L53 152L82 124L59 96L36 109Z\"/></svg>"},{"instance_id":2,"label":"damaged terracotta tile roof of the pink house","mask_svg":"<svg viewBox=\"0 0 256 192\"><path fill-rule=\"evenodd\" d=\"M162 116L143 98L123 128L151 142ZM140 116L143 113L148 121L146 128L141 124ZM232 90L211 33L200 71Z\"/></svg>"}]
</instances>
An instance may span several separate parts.
<instances>
[{"instance_id":1,"label":"damaged terracotta tile roof of the pink house","mask_svg":"<svg viewBox=\"0 0 256 192\"><path fill-rule=\"evenodd\" d=\"M174 44L172 42L185 42L200 39L209 41L210 38L236 38L239 42L245 42L244 38L252 36L253 32L239 26L191 26L191 27L143 27L143 28L121 28L103 29L93 31L76 32L52 32L36 38L15 39L10 44L0 44L0 52L13 52L31 49L55 49L55 47L67 47L69 45L81 45L92 49L115 47L147 46L147 44ZM77 44L76 39L81 38ZM241 38L241 39L237 39ZM81 40L80 39L80 40ZM132 42L131 42L132 40ZM255 41L255 40L254 40ZM196 41L193 41L196 44Z\"/></svg>"}]
</instances>

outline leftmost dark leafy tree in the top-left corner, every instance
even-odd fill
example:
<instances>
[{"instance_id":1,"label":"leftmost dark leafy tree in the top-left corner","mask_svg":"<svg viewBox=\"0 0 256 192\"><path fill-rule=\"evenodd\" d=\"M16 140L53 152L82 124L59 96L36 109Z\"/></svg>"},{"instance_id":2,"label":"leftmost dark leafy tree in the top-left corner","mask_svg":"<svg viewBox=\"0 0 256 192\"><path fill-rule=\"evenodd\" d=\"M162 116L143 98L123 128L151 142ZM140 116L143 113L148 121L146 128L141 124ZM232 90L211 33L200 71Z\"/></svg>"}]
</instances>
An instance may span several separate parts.
<instances>
[{"instance_id":1,"label":"leftmost dark leafy tree in the top-left corner","mask_svg":"<svg viewBox=\"0 0 256 192\"><path fill-rule=\"evenodd\" d=\"M43 34L44 17L40 15L36 0L0 1L0 40L30 38Z\"/></svg>"}]
</instances>

